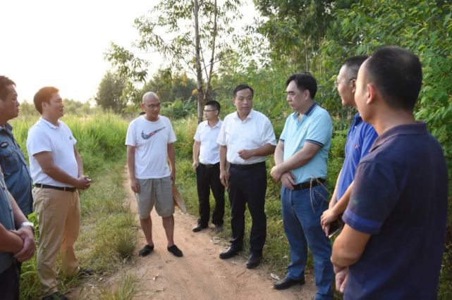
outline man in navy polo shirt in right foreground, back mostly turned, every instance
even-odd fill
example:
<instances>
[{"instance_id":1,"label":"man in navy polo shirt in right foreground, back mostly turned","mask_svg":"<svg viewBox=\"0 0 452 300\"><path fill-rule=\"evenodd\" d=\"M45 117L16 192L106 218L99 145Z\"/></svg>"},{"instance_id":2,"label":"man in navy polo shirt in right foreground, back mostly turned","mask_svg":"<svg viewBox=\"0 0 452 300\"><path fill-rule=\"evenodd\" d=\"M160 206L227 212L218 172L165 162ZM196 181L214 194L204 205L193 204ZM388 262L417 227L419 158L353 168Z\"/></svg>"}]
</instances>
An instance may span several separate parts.
<instances>
[{"instance_id":1,"label":"man in navy polo shirt in right foreground, back mostly turned","mask_svg":"<svg viewBox=\"0 0 452 300\"><path fill-rule=\"evenodd\" d=\"M417 56L396 46L359 70L355 101L379 137L358 165L333 246L344 299L436 299L448 174L441 146L413 116L421 82Z\"/></svg>"}]
</instances>

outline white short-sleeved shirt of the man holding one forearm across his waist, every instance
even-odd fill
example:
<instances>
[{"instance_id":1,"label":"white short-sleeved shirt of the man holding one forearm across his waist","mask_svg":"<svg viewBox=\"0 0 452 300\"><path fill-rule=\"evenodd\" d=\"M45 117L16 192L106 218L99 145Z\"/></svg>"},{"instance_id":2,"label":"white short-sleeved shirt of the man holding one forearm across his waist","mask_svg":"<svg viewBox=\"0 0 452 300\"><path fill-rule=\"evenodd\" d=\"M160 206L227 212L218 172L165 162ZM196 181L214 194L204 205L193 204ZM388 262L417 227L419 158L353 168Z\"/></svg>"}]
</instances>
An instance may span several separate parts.
<instances>
[{"instance_id":1,"label":"white short-sleeved shirt of the man holding one forearm across his waist","mask_svg":"<svg viewBox=\"0 0 452 300\"><path fill-rule=\"evenodd\" d=\"M226 160L238 165L265 161L264 156L252 156L244 160L238 156L238 151L256 149L264 144L276 146L274 130L269 118L253 109L243 121L240 120L237 112L226 115L216 142L227 147Z\"/></svg>"}]
</instances>

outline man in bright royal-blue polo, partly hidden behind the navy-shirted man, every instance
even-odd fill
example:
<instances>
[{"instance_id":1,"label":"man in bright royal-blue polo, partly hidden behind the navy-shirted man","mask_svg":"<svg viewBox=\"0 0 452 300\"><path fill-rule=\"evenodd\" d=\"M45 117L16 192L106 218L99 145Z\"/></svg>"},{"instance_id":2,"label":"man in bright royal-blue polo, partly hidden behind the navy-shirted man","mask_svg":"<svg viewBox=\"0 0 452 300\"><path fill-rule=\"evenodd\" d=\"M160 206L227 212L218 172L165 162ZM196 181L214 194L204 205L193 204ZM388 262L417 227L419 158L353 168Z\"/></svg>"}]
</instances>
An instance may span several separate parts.
<instances>
[{"instance_id":1,"label":"man in bright royal-blue polo, partly hidden behind the navy-shirted man","mask_svg":"<svg viewBox=\"0 0 452 300\"><path fill-rule=\"evenodd\" d=\"M336 80L336 87L341 96L343 106L356 108L355 92L356 77L360 65L367 59L367 56L353 56L343 63ZM369 123L365 123L360 113L353 118L353 123L348 130L345 147L346 159L343 161L341 172L339 172L334 188L333 196L329 201L329 207L320 218L322 228L326 235L329 235L331 222L339 218L346 210L350 193L353 187L353 177L355 177L356 167L360 160L369 154L370 146L377 138L377 132Z\"/></svg>"}]
</instances>

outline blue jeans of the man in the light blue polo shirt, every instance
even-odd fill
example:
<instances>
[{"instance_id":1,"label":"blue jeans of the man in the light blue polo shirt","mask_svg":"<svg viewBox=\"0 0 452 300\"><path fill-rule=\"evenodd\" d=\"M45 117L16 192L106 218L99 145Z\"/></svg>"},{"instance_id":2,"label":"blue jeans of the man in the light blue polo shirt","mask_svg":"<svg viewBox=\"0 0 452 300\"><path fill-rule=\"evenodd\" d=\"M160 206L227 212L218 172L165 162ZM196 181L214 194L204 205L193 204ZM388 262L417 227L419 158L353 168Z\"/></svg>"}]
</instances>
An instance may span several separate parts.
<instances>
[{"instance_id":1,"label":"blue jeans of the man in the light blue polo shirt","mask_svg":"<svg viewBox=\"0 0 452 300\"><path fill-rule=\"evenodd\" d=\"M320 225L320 216L328 208L328 192L322 185L291 191L281 189L284 231L291 251L287 277L300 280L305 276L307 246L314 257L315 299L333 299L334 280L331 244Z\"/></svg>"}]
</instances>

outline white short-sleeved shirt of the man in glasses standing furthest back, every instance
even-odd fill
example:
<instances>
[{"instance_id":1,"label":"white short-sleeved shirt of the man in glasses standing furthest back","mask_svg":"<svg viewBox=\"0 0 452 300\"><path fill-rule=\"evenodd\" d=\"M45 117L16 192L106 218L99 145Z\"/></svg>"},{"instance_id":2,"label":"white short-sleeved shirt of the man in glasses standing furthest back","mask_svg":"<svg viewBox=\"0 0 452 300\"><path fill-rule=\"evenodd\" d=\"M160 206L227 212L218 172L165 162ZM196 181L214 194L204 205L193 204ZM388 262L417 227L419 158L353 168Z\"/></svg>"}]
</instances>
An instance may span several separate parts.
<instances>
[{"instance_id":1,"label":"white short-sleeved shirt of the man in glasses standing furthest back","mask_svg":"<svg viewBox=\"0 0 452 300\"><path fill-rule=\"evenodd\" d=\"M214 127L210 127L207 120L197 125L195 132L196 142L201 142L200 146L200 163L218 163L220 161L219 149L220 146L216 142L218 134L220 132L221 124L223 122L219 120Z\"/></svg>"}]
</instances>

